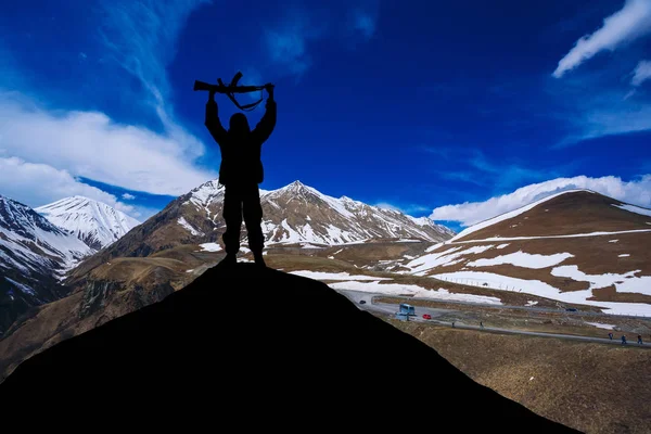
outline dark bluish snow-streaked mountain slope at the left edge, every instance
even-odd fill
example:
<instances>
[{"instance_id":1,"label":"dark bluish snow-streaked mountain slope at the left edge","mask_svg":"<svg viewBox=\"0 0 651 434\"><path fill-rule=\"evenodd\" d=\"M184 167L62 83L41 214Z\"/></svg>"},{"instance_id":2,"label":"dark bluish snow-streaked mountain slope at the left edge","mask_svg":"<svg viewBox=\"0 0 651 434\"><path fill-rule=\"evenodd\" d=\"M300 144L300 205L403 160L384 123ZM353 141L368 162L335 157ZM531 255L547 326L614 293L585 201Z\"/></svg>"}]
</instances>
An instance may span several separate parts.
<instances>
[{"instance_id":1,"label":"dark bluish snow-streaked mountain slope at the left edge","mask_svg":"<svg viewBox=\"0 0 651 434\"><path fill-rule=\"evenodd\" d=\"M58 278L91 253L30 207L0 196L0 333L29 306L63 295Z\"/></svg>"}]
</instances>

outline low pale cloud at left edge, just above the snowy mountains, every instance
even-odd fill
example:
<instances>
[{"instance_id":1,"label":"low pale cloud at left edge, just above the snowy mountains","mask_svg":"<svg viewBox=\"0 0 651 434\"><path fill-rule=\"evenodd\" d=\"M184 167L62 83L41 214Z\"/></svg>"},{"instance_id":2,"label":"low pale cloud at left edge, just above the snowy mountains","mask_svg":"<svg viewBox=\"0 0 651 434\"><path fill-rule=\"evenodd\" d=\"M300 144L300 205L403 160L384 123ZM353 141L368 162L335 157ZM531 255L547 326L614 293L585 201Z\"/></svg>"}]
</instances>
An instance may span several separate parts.
<instances>
[{"instance_id":1,"label":"low pale cloud at left edge, just above the snowy mountains","mask_svg":"<svg viewBox=\"0 0 651 434\"><path fill-rule=\"evenodd\" d=\"M0 194L31 207L81 195L131 216L138 214L133 206L118 202L113 194L77 181L66 170L59 170L47 164L27 163L16 157L0 157Z\"/></svg>"}]
</instances>

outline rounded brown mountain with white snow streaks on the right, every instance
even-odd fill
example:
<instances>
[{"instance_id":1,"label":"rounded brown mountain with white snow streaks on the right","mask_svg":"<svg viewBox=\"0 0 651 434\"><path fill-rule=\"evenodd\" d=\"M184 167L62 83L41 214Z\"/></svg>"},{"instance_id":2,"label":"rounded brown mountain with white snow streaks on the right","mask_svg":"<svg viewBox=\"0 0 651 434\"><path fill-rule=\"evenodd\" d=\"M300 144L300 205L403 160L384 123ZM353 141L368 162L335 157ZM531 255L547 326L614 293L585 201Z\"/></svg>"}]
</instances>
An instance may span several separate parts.
<instances>
[{"instance_id":1,"label":"rounded brown mountain with white snow streaks on the right","mask_svg":"<svg viewBox=\"0 0 651 434\"><path fill-rule=\"evenodd\" d=\"M401 272L651 316L651 209L589 190L490 218Z\"/></svg>"}]
</instances>

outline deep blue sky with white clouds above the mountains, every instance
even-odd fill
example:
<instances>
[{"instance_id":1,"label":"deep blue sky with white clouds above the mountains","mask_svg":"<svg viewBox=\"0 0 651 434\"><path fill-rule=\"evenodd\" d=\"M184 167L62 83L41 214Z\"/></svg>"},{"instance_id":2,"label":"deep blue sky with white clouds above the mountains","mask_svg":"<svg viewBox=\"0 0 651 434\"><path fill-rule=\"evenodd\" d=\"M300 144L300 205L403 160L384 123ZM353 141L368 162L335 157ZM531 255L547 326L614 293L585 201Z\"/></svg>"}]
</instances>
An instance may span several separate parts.
<instances>
[{"instance_id":1,"label":"deep blue sky with white clouds above the mountains","mask_svg":"<svg viewBox=\"0 0 651 434\"><path fill-rule=\"evenodd\" d=\"M650 0L162 3L3 5L0 194L151 216L217 174L194 79L242 71L276 84L266 190L455 228L573 187L651 206Z\"/></svg>"}]
</instances>

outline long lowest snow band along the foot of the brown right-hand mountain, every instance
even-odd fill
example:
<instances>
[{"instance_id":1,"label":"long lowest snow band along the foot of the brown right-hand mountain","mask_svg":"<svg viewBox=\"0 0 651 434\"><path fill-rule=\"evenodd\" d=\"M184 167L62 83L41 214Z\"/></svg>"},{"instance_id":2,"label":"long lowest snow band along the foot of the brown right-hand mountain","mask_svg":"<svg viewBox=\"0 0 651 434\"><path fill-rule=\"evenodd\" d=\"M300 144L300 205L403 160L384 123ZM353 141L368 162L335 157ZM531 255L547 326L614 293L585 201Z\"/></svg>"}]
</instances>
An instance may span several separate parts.
<instances>
[{"instance_id":1,"label":"long lowest snow band along the foot of the brown right-hand mountain","mask_svg":"<svg viewBox=\"0 0 651 434\"><path fill-rule=\"evenodd\" d=\"M607 309L604 314L612 315L640 315L651 317L651 305L646 303L614 303L589 301L592 297L592 290L561 292L548 283L539 280L525 280L512 278L509 276L496 275L485 271L456 271L432 276L433 278L448 281L471 281L473 284L483 285L487 283L488 288L500 290L506 286L515 291L538 295L546 298L558 299L563 303L578 305L597 306ZM501 288L500 288L501 286ZM506 291L506 290L505 290Z\"/></svg>"}]
</instances>

